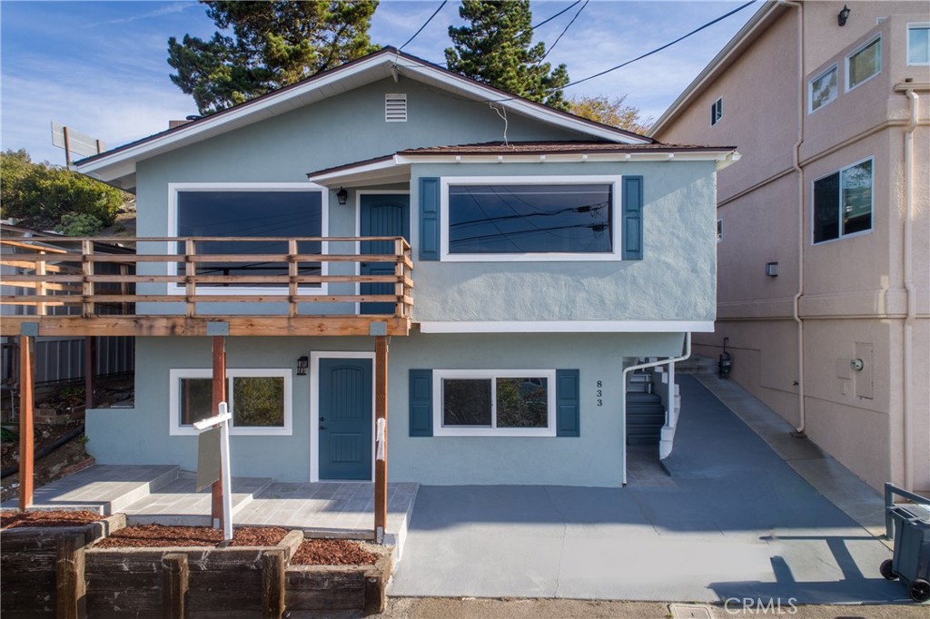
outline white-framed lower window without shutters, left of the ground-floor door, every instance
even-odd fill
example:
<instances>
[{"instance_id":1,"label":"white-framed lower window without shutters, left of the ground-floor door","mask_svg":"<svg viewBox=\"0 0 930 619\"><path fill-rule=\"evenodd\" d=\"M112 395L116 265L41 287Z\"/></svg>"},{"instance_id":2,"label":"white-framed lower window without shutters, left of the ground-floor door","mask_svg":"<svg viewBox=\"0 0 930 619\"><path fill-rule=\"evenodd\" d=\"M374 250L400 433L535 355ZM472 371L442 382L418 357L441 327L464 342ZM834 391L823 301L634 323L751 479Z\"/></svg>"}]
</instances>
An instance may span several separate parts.
<instances>
[{"instance_id":1,"label":"white-framed lower window without shutters, left of the ground-floor door","mask_svg":"<svg viewBox=\"0 0 930 619\"><path fill-rule=\"evenodd\" d=\"M233 434L291 433L289 369L227 370ZM171 434L195 434L193 424L216 415L210 370L171 370Z\"/></svg>"}]
</instances>

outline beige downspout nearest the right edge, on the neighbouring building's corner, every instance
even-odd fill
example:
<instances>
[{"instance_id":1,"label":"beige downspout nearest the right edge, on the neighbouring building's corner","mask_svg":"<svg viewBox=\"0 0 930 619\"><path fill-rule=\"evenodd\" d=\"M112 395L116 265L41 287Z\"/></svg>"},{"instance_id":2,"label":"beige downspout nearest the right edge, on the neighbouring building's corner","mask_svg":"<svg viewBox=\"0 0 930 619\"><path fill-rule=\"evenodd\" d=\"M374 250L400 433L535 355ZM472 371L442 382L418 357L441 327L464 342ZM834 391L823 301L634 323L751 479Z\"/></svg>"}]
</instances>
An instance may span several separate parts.
<instances>
[{"instance_id":1,"label":"beige downspout nearest the right edge, on the neighbouring building's corner","mask_svg":"<svg viewBox=\"0 0 930 619\"><path fill-rule=\"evenodd\" d=\"M904 406L903 408L903 426L904 441L902 444L902 455L904 456L904 489L912 490L913 486L913 454L910 450L910 433L911 433L911 408L913 407L913 396L911 394L912 368L911 355L912 350L910 340L913 336L914 317L917 314L917 294L914 291L913 282L913 261L911 259L910 244L912 240L912 230L910 227L911 212L913 209L913 156L914 156L914 130L917 128L918 97L912 89L905 91L910 99L910 123L908 130L904 134L904 289L908 292L908 314L904 320L904 343L902 347L902 357L904 362Z\"/></svg>"}]
</instances>

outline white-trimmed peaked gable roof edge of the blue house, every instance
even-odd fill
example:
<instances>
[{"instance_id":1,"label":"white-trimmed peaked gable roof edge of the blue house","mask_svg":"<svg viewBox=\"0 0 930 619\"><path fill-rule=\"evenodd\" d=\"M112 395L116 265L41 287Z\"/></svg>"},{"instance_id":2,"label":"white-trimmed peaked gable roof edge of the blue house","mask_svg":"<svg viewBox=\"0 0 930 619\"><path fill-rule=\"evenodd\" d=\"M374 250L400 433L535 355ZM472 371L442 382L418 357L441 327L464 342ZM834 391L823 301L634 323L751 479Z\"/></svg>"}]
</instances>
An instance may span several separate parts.
<instances>
[{"instance_id":1,"label":"white-trimmed peaked gable roof edge of the blue house","mask_svg":"<svg viewBox=\"0 0 930 619\"><path fill-rule=\"evenodd\" d=\"M296 110L359 86L390 77L396 80L399 76L442 88L467 99L494 102L509 112L578 131L591 136L592 139L626 144L651 144L655 141L652 138L617 127L601 125L574 114L517 97L493 86L487 86L448 71L426 60L405 54L393 47L385 47L364 58L317 73L296 84L279 88L221 112L87 157L76 162L75 168L82 174L129 190L135 187L136 163L140 160L258 123L271 116Z\"/></svg>"}]
</instances>

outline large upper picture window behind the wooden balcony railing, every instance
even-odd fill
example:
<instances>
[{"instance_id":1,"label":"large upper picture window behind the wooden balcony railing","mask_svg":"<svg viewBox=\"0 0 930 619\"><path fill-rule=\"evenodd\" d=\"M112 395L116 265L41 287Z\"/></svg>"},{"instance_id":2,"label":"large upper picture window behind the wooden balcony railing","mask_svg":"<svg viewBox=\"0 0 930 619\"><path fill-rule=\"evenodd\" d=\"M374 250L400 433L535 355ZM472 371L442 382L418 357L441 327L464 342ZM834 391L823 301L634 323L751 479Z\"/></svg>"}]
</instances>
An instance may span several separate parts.
<instances>
[{"instance_id":1,"label":"large upper picture window behind the wooden balcony railing","mask_svg":"<svg viewBox=\"0 0 930 619\"><path fill-rule=\"evenodd\" d=\"M169 189L172 204L169 230L180 237L320 237L324 235L326 212L324 192L307 183L284 184L176 184ZM300 254L319 254L321 244L302 241ZM286 276L286 262L250 261L249 254L287 254L286 241L201 241L195 251L200 255L243 255L241 261L199 262L197 275L237 276L238 278ZM178 253L187 253L179 243ZM321 274L319 262L300 263L300 275ZM216 288L212 293L232 294L247 288L286 286L286 283L198 283L198 287ZM321 284L301 284L301 289L321 288Z\"/></svg>"}]
</instances>

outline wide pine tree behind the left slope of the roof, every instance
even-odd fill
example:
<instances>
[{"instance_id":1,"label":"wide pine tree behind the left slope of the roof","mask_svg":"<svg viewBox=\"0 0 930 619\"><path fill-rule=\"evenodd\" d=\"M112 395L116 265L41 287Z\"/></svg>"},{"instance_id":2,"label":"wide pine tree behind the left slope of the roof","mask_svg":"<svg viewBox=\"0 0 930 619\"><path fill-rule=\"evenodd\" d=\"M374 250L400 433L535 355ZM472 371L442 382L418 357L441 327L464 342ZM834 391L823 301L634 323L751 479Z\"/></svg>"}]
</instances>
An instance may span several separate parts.
<instances>
[{"instance_id":1,"label":"wide pine tree behind the left slope of the roof","mask_svg":"<svg viewBox=\"0 0 930 619\"><path fill-rule=\"evenodd\" d=\"M378 0L207 2L222 32L168 39L171 81L202 114L338 67L375 51L368 37ZM232 31L232 36L227 34Z\"/></svg>"}]
</instances>

